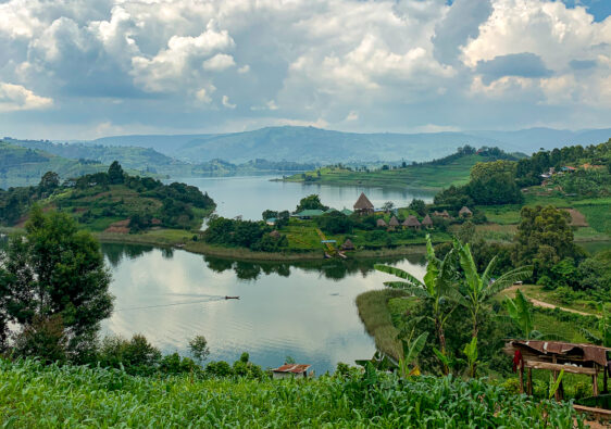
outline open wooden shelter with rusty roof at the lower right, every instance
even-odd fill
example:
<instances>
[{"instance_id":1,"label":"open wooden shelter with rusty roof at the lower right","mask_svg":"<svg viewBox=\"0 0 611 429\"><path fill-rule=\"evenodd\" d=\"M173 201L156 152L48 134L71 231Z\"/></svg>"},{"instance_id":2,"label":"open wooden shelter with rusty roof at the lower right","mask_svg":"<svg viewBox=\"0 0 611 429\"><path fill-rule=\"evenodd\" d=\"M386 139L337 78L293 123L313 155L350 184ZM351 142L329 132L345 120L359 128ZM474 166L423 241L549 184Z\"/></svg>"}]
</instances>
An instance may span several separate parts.
<instances>
[{"instance_id":1,"label":"open wooden shelter with rusty roof at the lower right","mask_svg":"<svg viewBox=\"0 0 611 429\"><path fill-rule=\"evenodd\" d=\"M593 395L598 396L598 376L603 376L603 391L608 391L607 379L610 348L593 344L574 344L562 341L509 340L503 352L513 356L514 370L520 374L520 390L524 392L524 368L528 369L526 393L533 394L533 369L550 370L556 380L561 370L591 377ZM562 383L556 399L563 398Z\"/></svg>"}]
</instances>

